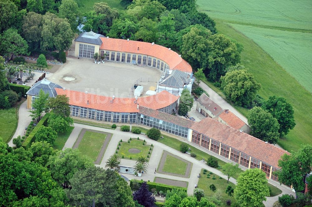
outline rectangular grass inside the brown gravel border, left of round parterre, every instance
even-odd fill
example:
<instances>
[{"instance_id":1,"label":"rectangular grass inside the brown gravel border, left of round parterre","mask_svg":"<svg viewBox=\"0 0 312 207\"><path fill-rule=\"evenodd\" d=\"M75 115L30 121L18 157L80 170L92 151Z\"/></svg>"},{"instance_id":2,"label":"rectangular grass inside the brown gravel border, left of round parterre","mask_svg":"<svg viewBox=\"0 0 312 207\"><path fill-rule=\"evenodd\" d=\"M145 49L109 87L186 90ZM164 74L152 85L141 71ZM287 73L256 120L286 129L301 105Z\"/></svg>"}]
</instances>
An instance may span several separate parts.
<instances>
[{"instance_id":1,"label":"rectangular grass inside the brown gravel border, left of round parterre","mask_svg":"<svg viewBox=\"0 0 312 207\"><path fill-rule=\"evenodd\" d=\"M82 154L89 156L93 161L96 161L101 148L103 147L106 136L106 134L86 131L79 143L79 151Z\"/></svg>"}]
</instances>

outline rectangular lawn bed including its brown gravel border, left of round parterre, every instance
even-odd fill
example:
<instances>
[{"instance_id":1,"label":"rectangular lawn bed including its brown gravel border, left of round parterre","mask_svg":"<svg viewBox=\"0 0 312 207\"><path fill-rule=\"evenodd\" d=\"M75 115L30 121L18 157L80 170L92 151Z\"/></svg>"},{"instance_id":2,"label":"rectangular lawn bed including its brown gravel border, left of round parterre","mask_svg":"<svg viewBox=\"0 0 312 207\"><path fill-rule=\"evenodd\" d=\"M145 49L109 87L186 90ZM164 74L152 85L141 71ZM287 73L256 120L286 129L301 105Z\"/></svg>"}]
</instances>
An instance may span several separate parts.
<instances>
[{"instance_id":1,"label":"rectangular lawn bed including its brown gravel border, left of round parterre","mask_svg":"<svg viewBox=\"0 0 312 207\"><path fill-rule=\"evenodd\" d=\"M90 129L82 129L73 146L90 157L95 164L100 164L112 134Z\"/></svg>"}]
</instances>

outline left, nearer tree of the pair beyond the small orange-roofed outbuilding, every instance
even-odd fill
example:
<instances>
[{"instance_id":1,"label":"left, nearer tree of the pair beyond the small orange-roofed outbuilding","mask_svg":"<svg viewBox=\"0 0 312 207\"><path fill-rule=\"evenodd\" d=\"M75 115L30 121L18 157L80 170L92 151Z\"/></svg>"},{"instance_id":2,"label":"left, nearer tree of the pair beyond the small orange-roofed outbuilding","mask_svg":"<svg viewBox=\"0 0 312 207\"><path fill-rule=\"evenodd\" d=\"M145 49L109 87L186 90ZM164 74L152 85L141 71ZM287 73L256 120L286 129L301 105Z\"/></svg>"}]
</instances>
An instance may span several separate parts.
<instances>
[{"instance_id":1,"label":"left, nearer tree of the pair beyond the small orange-roofed outbuilding","mask_svg":"<svg viewBox=\"0 0 312 207\"><path fill-rule=\"evenodd\" d=\"M275 144L280 137L278 121L259 106L249 110L248 124L250 134L258 139Z\"/></svg>"}]
</instances>

